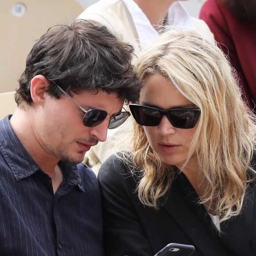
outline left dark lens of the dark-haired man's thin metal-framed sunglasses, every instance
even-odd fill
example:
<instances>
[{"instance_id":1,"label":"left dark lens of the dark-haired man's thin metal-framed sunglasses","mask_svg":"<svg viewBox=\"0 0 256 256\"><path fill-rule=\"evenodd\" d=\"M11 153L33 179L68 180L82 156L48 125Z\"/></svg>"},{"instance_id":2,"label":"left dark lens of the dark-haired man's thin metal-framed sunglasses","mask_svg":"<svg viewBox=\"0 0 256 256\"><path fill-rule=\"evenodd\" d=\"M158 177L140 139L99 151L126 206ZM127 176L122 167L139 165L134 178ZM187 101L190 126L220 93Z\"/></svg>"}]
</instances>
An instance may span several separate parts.
<instances>
[{"instance_id":1,"label":"left dark lens of the dark-haired man's thin metal-framed sunglasses","mask_svg":"<svg viewBox=\"0 0 256 256\"><path fill-rule=\"evenodd\" d=\"M83 125L87 127L94 127L102 123L107 117L108 113L101 109L90 109L83 117Z\"/></svg>"}]
</instances>

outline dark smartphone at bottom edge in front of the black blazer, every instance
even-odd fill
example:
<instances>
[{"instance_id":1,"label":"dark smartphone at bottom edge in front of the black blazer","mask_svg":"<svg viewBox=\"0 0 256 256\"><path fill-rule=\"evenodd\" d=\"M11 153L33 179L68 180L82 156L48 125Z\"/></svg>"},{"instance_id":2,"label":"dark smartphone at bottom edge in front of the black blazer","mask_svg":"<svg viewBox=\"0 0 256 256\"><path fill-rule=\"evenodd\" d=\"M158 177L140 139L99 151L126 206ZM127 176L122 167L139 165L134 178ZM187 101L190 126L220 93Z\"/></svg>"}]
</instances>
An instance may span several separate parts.
<instances>
[{"instance_id":1,"label":"dark smartphone at bottom edge in front of the black blazer","mask_svg":"<svg viewBox=\"0 0 256 256\"><path fill-rule=\"evenodd\" d=\"M189 256L195 251L193 245L170 243L154 256Z\"/></svg>"}]
</instances>

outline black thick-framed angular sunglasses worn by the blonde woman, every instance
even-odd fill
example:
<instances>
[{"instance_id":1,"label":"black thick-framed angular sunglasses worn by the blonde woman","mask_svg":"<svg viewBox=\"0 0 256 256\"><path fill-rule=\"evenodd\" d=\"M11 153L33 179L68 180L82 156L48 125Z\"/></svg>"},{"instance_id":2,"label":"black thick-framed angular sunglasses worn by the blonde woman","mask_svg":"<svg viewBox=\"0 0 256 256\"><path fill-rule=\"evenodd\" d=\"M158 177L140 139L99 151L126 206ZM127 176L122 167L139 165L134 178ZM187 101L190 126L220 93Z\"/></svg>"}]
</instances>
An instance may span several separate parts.
<instances>
[{"instance_id":1,"label":"black thick-framed angular sunglasses worn by the blonde woman","mask_svg":"<svg viewBox=\"0 0 256 256\"><path fill-rule=\"evenodd\" d=\"M153 107L130 104L132 116L143 126L158 126L163 116L168 117L173 127L190 129L196 125L200 117L200 109L157 109Z\"/></svg>"}]
</instances>

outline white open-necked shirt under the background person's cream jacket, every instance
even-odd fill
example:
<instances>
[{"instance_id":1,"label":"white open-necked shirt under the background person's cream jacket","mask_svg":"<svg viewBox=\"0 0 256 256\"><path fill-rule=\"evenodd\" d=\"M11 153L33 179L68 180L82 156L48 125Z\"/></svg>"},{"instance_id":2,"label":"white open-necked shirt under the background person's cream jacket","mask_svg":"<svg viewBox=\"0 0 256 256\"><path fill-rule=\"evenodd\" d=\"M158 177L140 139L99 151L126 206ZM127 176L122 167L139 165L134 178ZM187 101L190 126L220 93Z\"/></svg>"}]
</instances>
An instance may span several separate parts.
<instances>
[{"instance_id":1,"label":"white open-necked shirt under the background person's cream jacket","mask_svg":"<svg viewBox=\"0 0 256 256\"><path fill-rule=\"evenodd\" d=\"M132 16L133 23L139 36L140 45L143 48L158 37L158 32L151 25L147 16L143 13L141 8L139 8L138 4L133 0L123 1ZM173 2L169 7L166 23L168 25L182 26L182 30L196 30L196 26L190 15L179 1Z\"/></svg>"}]
</instances>

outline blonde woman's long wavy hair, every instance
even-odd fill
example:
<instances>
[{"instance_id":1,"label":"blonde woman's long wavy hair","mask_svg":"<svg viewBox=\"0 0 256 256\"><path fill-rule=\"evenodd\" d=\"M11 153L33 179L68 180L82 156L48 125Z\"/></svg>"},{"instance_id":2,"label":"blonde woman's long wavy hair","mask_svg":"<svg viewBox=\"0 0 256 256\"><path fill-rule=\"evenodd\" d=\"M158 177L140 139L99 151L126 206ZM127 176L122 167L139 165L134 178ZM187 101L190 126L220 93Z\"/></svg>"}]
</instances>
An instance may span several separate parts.
<instances>
[{"instance_id":1,"label":"blonde woman's long wavy hair","mask_svg":"<svg viewBox=\"0 0 256 256\"><path fill-rule=\"evenodd\" d=\"M207 196L201 203L215 200L220 222L239 215L249 172L255 174L250 162L256 144L256 124L241 98L226 56L215 43L195 31L165 29L140 53L135 67L142 82L156 73L169 78L185 98L201 109L183 168L196 150L208 183ZM136 172L140 175L139 200L158 208L159 199L171 186L175 167L161 161L149 145L143 126L134 123L132 151L124 152L122 158L132 159L140 170Z\"/></svg>"}]
</instances>

